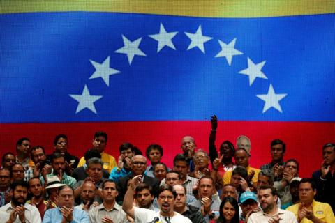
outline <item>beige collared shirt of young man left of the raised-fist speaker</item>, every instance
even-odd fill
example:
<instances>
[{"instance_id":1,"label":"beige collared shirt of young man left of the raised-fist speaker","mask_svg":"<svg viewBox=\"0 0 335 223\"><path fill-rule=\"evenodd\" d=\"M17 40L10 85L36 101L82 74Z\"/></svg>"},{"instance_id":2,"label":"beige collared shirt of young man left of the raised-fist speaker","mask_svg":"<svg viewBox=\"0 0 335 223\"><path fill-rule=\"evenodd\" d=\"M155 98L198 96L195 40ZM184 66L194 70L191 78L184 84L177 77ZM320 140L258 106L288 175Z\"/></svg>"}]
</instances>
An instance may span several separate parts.
<instances>
[{"instance_id":1,"label":"beige collared shirt of young man left of the raised-fist speaker","mask_svg":"<svg viewBox=\"0 0 335 223\"><path fill-rule=\"evenodd\" d=\"M112 210L107 210L103 203L101 203L101 205L96 206L89 211L89 220L94 223L100 223L101 219L105 216L110 217L113 222L127 222L126 213L116 202L114 203Z\"/></svg>"}]
</instances>

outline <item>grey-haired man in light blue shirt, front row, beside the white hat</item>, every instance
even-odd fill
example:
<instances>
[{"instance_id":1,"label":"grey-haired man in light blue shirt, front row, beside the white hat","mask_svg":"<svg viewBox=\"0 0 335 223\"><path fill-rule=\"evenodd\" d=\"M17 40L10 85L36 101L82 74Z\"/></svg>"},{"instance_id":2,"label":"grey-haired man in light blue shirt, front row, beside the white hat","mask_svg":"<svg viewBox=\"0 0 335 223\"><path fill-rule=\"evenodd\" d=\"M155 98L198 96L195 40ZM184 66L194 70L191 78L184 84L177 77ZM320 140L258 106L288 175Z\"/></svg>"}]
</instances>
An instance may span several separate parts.
<instances>
[{"instance_id":1,"label":"grey-haired man in light blue shirt, front row, beside the white hat","mask_svg":"<svg viewBox=\"0 0 335 223\"><path fill-rule=\"evenodd\" d=\"M84 210L74 208L74 203L72 187L61 186L59 188L58 207L45 212L43 223L89 223L89 215Z\"/></svg>"}]
</instances>

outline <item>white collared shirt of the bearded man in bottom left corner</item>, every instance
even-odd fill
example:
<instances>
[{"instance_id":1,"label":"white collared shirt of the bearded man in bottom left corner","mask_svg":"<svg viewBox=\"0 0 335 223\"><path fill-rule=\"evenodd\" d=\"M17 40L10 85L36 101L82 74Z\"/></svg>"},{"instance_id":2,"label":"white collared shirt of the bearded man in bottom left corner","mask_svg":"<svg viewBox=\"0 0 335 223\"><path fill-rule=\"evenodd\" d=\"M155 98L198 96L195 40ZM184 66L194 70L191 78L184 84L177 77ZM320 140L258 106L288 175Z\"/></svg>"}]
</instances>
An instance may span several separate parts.
<instances>
[{"instance_id":1,"label":"white collared shirt of the bearded man in bottom left corner","mask_svg":"<svg viewBox=\"0 0 335 223\"><path fill-rule=\"evenodd\" d=\"M24 216L26 217L27 223L40 223L40 213L38 212L38 209L34 206L31 206L28 203L24 203ZM5 206L0 208L0 212L6 212L8 214L12 213L14 208L12 207L12 202L7 203ZM19 216L16 217L15 222L13 223L20 223Z\"/></svg>"}]
</instances>

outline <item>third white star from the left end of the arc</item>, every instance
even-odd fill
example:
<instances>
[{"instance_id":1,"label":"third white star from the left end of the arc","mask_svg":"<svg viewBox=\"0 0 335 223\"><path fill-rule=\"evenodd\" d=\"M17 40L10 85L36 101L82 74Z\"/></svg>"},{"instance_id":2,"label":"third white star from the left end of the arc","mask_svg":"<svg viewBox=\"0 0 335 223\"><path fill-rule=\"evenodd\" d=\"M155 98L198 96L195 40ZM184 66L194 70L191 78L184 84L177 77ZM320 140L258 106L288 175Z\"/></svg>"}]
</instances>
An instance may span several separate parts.
<instances>
[{"instance_id":1,"label":"third white star from the left end of the arc","mask_svg":"<svg viewBox=\"0 0 335 223\"><path fill-rule=\"evenodd\" d=\"M135 55L147 56L146 54L144 54L144 52L142 52L140 48L138 48L141 43L142 37L134 40L133 42L128 40L124 35L122 35L122 39L124 40L124 47L117 49L115 52L119 54L127 54L129 65L131 64L131 61L133 61Z\"/></svg>"}]
</instances>

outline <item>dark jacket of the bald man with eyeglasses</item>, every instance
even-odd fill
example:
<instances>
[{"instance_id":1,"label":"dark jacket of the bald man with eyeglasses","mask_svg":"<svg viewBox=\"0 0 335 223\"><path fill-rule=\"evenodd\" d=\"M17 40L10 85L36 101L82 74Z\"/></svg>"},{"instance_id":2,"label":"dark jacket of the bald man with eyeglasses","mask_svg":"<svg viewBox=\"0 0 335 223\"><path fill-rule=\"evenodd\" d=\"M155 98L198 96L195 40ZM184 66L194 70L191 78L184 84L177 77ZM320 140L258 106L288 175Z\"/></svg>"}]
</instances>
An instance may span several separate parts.
<instances>
[{"instance_id":1,"label":"dark jacket of the bald man with eyeglasses","mask_svg":"<svg viewBox=\"0 0 335 223\"><path fill-rule=\"evenodd\" d=\"M117 192L119 192L119 195L117 196L117 203L119 203L120 205L124 201L124 194L126 194L126 191L127 191L128 181L132 179L133 177L134 177L133 174L130 174L128 176L119 178L119 182L117 183ZM154 191L155 197L157 197L159 180L156 178L144 175L143 183L151 186L152 190Z\"/></svg>"}]
</instances>

